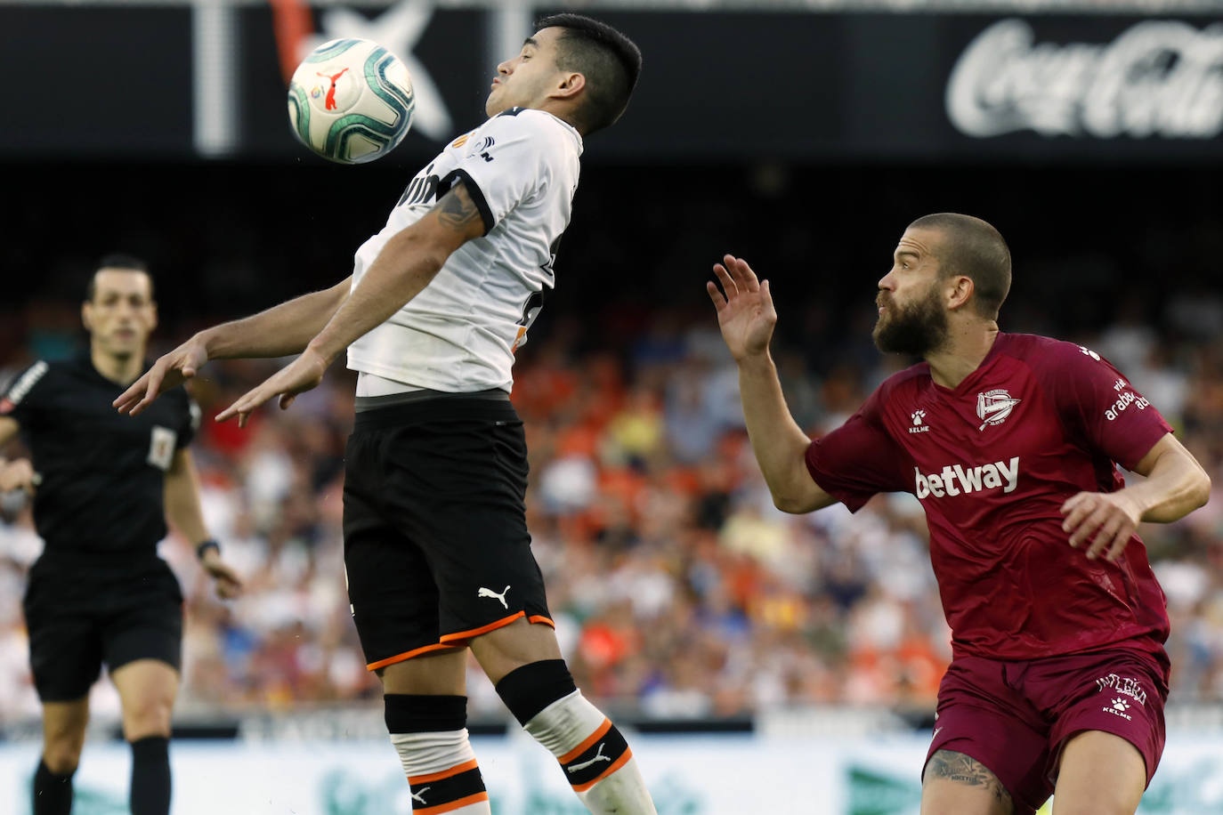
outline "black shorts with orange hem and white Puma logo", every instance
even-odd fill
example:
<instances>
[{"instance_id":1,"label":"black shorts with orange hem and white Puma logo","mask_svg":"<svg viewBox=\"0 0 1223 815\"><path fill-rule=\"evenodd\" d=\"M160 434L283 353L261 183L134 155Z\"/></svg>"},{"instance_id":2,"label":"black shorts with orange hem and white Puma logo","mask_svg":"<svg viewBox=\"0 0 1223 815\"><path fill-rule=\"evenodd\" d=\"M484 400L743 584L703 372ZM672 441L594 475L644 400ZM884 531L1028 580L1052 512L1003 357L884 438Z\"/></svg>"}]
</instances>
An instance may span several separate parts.
<instances>
[{"instance_id":1,"label":"black shorts with orange hem and white Puma logo","mask_svg":"<svg viewBox=\"0 0 1223 815\"><path fill-rule=\"evenodd\" d=\"M464 648L521 617L553 624L526 486L522 422L504 396L357 413L345 453L344 563L371 671Z\"/></svg>"}]
</instances>

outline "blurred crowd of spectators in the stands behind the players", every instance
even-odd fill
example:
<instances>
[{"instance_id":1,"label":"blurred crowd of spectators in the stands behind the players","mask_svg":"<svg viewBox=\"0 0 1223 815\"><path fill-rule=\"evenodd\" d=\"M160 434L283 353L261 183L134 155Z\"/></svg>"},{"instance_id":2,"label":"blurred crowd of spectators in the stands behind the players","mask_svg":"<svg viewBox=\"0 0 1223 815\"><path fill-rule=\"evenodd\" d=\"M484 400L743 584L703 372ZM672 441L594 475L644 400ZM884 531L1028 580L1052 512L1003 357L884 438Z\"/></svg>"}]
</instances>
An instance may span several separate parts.
<instances>
[{"instance_id":1,"label":"blurred crowd of spectators in the stands behind the players","mask_svg":"<svg viewBox=\"0 0 1223 815\"><path fill-rule=\"evenodd\" d=\"M1173 699L1218 701L1223 301L1174 297L1153 320L1141 305L1120 303L1102 331L1060 336L1120 368L1213 477L1203 510L1141 534L1173 619ZM1004 330L1057 334L1038 308L1014 310ZM873 351L868 323L821 330L808 315L805 324L802 342L779 338L774 354L795 418L819 435L901 363ZM56 320L40 325L44 335L0 360L0 381L78 337L68 316L59 335L45 331ZM214 363L193 396L215 414L276 364ZM379 695L342 567L352 392L338 364L291 409L265 409L246 430L204 422L192 447L204 512L246 591L218 600L191 547L174 534L163 543L187 598L180 714ZM563 649L597 704L668 720L817 704L932 709L950 649L921 506L885 495L856 516L839 505L777 511L712 308L624 308L598 324L555 315L520 353L512 400L531 451L534 552ZM10 499L0 524L0 721L38 711L20 599L39 550L28 508ZM475 666L468 685L475 716L500 715ZM116 704L105 683L95 693L95 710Z\"/></svg>"}]
</instances>

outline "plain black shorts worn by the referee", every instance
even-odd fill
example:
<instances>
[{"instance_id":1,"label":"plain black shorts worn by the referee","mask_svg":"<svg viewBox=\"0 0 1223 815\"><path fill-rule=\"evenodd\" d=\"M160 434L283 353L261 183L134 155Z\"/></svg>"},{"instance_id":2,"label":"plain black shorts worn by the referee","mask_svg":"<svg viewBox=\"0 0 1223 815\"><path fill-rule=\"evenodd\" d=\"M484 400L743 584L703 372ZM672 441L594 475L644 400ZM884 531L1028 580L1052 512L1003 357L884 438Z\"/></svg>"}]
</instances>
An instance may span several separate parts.
<instances>
[{"instance_id":1,"label":"plain black shorts worn by the referee","mask_svg":"<svg viewBox=\"0 0 1223 815\"><path fill-rule=\"evenodd\" d=\"M22 606L43 701L87 695L103 663L111 672L143 659L181 666L182 591L155 555L50 552L29 569Z\"/></svg>"}]
</instances>

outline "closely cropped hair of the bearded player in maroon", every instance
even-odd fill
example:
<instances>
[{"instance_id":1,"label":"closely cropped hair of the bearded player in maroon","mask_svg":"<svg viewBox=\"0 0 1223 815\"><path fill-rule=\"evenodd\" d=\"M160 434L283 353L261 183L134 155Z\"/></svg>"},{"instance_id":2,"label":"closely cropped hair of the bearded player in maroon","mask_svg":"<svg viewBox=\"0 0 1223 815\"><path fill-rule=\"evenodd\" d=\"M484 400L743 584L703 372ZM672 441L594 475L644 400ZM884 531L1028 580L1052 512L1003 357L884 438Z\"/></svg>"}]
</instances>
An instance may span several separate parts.
<instances>
[{"instance_id":1,"label":"closely cropped hair of the bearded player in maroon","mask_svg":"<svg viewBox=\"0 0 1223 815\"><path fill-rule=\"evenodd\" d=\"M1010 249L1002 232L980 217L959 213L923 215L909 228L943 233L942 274L971 279L977 314L997 320L998 309L1010 291Z\"/></svg>"}]
</instances>

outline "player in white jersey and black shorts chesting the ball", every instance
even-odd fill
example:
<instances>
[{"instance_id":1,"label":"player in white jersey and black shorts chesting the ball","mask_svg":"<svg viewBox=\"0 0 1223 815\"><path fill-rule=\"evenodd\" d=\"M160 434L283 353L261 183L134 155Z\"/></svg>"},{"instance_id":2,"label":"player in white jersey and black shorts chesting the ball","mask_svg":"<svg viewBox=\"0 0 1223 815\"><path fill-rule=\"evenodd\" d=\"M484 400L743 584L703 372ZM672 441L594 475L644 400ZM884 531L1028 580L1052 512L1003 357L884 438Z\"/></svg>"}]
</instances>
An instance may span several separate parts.
<instances>
[{"instance_id":1,"label":"player in white jersey and black shorts chesting the ball","mask_svg":"<svg viewBox=\"0 0 1223 815\"><path fill-rule=\"evenodd\" d=\"M302 352L218 419L358 371L345 455L345 567L386 727L429 814L487 815L466 729L466 659L560 761L592 813L652 814L624 737L574 684L531 554L514 351L552 288L582 138L629 104L641 54L587 17L539 23L498 66L484 125L404 191L349 280L203 331L115 404L137 413L208 359Z\"/></svg>"}]
</instances>

